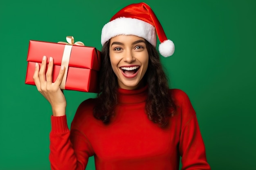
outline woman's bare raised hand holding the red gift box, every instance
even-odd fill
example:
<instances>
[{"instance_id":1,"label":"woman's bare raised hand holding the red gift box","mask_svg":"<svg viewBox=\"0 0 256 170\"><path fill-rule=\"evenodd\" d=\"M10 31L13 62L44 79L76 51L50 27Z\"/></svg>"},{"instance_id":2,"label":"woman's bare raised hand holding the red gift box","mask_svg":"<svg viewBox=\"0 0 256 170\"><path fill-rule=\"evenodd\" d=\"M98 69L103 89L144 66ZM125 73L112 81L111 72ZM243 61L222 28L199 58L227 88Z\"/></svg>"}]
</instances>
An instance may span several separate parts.
<instances>
[{"instance_id":1,"label":"woman's bare raised hand holding the red gift box","mask_svg":"<svg viewBox=\"0 0 256 170\"><path fill-rule=\"evenodd\" d=\"M49 65L47 72L45 74L47 57L43 56L41 68L39 64L36 63L36 68L34 72L34 82L36 84L37 90L48 100L52 106L52 114L54 116L65 115L66 110L66 99L63 91L60 88L60 84L64 75L65 67L61 66L61 70L58 74L56 81L52 82L52 69L53 69L53 58L49 58Z\"/></svg>"}]
</instances>

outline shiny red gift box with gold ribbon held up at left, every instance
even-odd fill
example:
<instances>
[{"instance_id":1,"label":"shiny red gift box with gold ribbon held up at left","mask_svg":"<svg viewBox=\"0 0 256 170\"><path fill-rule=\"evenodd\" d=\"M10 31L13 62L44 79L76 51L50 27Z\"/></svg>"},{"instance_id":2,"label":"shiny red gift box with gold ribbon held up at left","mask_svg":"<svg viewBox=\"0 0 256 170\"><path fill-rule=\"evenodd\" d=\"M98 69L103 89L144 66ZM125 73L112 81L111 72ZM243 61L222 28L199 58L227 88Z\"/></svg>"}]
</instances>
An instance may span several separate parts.
<instances>
[{"instance_id":1,"label":"shiny red gift box with gold ribbon held up at left","mask_svg":"<svg viewBox=\"0 0 256 170\"><path fill-rule=\"evenodd\" d=\"M27 74L25 84L35 85L33 75L35 71L36 63L41 65L43 56L53 57L54 67L52 80L55 82L61 65L65 62L68 66L65 66L65 75L61 86L65 90L84 91L97 93L97 74L100 67L100 51L94 47L78 46L74 43L73 37L70 39L70 44L60 44L52 42L42 41L29 41L29 49L27 54ZM78 42L78 44L81 42ZM74 44L74 45L72 45ZM82 43L83 45L83 43ZM64 57L65 56L65 57ZM69 58L68 60L64 58ZM47 60L47 61L48 61ZM48 65L48 62L47 62Z\"/></svg>"}]
</instances>

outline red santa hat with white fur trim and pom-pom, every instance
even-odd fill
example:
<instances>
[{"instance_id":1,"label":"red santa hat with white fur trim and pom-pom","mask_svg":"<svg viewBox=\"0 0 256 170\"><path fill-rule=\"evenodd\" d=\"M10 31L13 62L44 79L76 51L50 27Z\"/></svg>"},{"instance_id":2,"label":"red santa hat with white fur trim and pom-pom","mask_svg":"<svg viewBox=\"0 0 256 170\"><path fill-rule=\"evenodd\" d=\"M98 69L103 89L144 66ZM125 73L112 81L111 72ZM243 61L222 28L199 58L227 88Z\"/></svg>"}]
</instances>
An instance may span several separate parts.
<instances>
[{"instance_id":1,"label":"red santa hat with white fur trim and pom-pom","mask_svg":"<svg viewBox=\"0 0 256 170\"><path fill-rule=\"evenodd\" d=\"M117 12L110 22L103 26L101 44L103 46L117 35L137 35L156 46L156 33L160 41L159 53L164 57L173 55L174 44L166 38L164 29L148 4L130 4Z\"/></svg>"}]
</instances>

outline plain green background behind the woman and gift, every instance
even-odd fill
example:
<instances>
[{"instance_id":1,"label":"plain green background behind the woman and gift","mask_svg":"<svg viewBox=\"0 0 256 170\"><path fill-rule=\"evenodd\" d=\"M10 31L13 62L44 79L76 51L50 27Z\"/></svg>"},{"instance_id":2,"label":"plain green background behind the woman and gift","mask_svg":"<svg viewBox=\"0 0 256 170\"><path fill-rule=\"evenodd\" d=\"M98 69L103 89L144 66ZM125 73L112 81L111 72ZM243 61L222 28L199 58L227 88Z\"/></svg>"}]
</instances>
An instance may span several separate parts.
<instances>
[{"instance_id":1,"label":"plain green background behind the woman and gift","mask_svg":"<svg viewBox=\"0 0 256 170\"><path fill-rule=\"evenodd\" d=\"M0 2L0 170L49 170L51 107L25 84L29 40L75 41L101 50L101 29L137 0ZM213 170L256 167L256 1L145 0L175 43L162 57L171 88L197 112ZM70 125L92 93L65 91ZM87 170L94 170L90 158Z\"/></svg>"}]
</instances>

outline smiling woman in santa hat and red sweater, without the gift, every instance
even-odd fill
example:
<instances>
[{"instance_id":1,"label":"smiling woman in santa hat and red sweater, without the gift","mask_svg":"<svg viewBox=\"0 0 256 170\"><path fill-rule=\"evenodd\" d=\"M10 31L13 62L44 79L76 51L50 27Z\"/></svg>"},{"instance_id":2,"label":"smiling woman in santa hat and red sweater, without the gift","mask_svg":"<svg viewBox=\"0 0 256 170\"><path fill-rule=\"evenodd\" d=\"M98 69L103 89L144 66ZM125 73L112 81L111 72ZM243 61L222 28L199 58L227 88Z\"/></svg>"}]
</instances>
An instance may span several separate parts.
<instances>
[{"instance_id":1,"label":"smiling woman in santa hat and red sweater, without the gift","mask_svg":"<svg viewBox=\"0 0 256 170\"><path fill-rule=\"evenodd\" d=\"M195 111L188 96L168 89L159 60L174 45L145 3L121 9L102 29L100 92L82 102L71 129L60 83L52 82L53 58L45 73L36 64L34 81L52 106L51 168L84 170L94 156L97 170L210 170Z\"/></svg>"}]
</instances>

